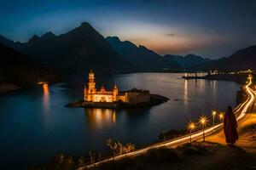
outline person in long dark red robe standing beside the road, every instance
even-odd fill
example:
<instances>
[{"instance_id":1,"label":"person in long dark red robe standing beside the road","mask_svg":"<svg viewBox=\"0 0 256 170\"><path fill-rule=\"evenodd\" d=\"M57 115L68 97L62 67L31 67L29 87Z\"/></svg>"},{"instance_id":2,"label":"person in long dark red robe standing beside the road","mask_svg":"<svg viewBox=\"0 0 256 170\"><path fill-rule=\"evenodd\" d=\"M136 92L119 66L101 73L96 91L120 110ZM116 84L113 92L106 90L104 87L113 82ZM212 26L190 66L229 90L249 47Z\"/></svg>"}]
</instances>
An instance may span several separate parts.
<instances>
[{"instance_id":1,"label":"person in long dark red robe standing beside the road","mask_svg":"<svg viewBox=\"0 0 256 170\"><path fill-rule=\"evenodd\" d=\"M224 134L227 144L235 144L238 139L236 116L232 111L231 106L228 106L228 111L224 115Z\"/></svg>"}]
</instances>

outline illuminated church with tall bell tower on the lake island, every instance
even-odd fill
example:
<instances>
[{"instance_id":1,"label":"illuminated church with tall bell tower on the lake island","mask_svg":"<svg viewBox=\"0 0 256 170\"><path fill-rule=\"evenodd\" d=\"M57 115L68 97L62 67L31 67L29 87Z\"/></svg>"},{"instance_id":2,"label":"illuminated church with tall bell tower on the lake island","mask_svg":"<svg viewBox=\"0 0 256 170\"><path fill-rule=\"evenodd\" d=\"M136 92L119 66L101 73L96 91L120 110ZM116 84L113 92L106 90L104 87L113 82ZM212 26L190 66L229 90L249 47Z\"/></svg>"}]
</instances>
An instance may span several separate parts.
<instances>
[{"instance_id":1,"label":"illuminated church with tall bell tower on the lake island","mask_svg":"<svg viewBox=\"0 0 256 170\"><path fill-rule=\"evenodd\" d=\"M122 102L130 105L140 103L148 103L150 101L150 94L148 90L138 90L133 88L130 91L119 92L116 83L112 91L107 91L103 86L97 91L95 75L90 71L88 83L84 84L84 102L93 103L115 103Z\"/></svg>"}]
</instances>

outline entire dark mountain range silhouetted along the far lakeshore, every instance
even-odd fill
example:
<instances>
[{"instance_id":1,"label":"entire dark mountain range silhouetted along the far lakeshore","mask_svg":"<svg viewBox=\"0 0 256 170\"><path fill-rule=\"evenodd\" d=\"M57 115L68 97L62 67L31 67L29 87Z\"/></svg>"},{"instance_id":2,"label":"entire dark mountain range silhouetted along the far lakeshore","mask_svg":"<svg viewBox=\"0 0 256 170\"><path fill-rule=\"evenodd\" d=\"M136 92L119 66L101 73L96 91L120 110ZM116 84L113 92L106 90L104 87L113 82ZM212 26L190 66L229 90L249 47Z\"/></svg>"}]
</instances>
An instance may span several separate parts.
<instances>
[{"instance_id":1,"label":"entire dark mountain range silhouetted along the far lakeshore","mask_svg":"<svg viewBox=\"0 0 256 170\"><path fill-rule=\"evenodd\" d=\"M84 75L90 69L102 77L134 71L255 69L256 46L213 60L195 54L161 56L143 45L120 41L119 37L104 38L86 22L59 36L49 31L41 37L34 35L28 42L14 42L3 36L0 36L0 42L28 59L55 68L65 75Z\"/></svg>"}]
</instances>

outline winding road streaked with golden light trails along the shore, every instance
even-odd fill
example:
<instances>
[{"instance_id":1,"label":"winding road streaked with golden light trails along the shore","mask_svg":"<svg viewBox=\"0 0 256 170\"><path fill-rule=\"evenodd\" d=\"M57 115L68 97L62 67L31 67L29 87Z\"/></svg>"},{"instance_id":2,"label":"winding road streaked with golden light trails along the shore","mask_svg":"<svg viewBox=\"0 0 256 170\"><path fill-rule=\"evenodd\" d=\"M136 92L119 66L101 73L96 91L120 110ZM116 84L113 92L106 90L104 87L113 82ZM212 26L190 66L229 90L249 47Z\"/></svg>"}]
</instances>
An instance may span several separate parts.
<instances>
[{"instance_id":1,"label":"winding road streaked with golden light trails along the shore","mask_svg":"<svg viewBox=\"0 0 256 170\"><path fill-rule=\"evenodd\" d=\"M241 122L243 120L243 118L246 116L247 112L251 111L251 106L253 106L255 103L256 92L253 91L252 88L250 88L251 85L252 85L252 77L248 77L248 83L245 86L247 94L248 94L248 98L244 103L242 103L241 105L238 105L236 107L236 109L234 110L234 112L236 114L237 122ZM206 137L212 135L213 133L217 133L218 131L220 131L222 129L222 127L223 127L223 123L219 123L215 126L206 128L205 129ZM203 133L201 131L195 132L191 135L191 139L192 140L201 139L202 134ZM138 155L146 153L150 149L155 149L155 148L160 148L160 147L171 147L171 146L176 146L178 144L188 143L189 140L190 140L190 135L189 134L184 135L177 139L167 140L165 142L153 144L146 148L143 148L140 150L135 150L135 151L132 151L132 152L124 154L124 155L115 156L114 158L111 157L111 158L105 159L103 161L98 161L96 163L93 163L93 164L90 164L90 165L87 165L84 167L79 167L78 170L90 169L91 167L96 167L101 163L108 162L108 161L114 161L114 160L116 161L116 160L123 159L125 157L138 156Z\"/></svg>"}]
</instances>

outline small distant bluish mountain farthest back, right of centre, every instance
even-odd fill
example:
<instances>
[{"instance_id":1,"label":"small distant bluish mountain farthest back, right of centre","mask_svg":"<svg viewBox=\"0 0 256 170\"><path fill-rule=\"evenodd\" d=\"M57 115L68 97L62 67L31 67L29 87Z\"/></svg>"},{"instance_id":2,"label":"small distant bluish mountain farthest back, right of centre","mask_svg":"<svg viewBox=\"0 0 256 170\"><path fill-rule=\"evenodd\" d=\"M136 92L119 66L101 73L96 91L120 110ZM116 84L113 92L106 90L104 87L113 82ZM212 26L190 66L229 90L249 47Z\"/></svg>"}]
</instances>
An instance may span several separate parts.
<instances>
[{"instance_id":1,"label":"small distant bluish mountain farthest back, right of centre","mask_svg":"<svg viewBox=\"0 0 256 170\"><path fill-rule=\"evenodd\" d=\"M172 61L173 63L179 65L184 69L188 69L193 65L200 65L203 63L207 63L211 60L211 59L202 58L201 56L198 56L195 54L188 54L188 55L185 55L184 57L180 55L166 54L164 55L164 58L168 59L169 61Z\"/></svg>"}]
</instances>

